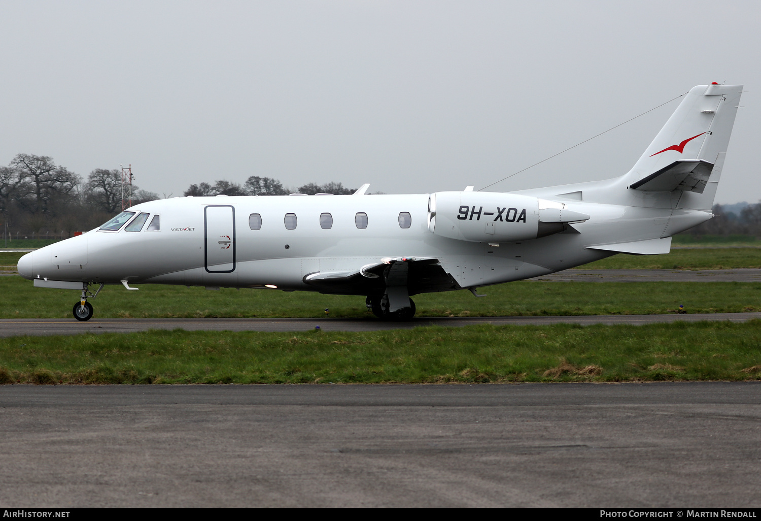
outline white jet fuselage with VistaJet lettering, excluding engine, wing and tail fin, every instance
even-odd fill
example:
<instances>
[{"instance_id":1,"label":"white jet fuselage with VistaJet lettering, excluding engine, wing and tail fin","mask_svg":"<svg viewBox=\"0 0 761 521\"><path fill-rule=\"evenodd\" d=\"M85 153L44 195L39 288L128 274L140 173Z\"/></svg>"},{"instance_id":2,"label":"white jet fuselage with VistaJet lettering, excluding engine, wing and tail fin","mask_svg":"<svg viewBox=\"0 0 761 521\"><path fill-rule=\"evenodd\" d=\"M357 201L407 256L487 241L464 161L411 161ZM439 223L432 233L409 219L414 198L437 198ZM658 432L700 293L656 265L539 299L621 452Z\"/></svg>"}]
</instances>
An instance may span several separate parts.
<instances>
[{"instance_id":1,"label":"white jet fuselage with VistaJet lettering, excluding engine, wing and tail fin","mask_svg":"<svg viewBox=\"0 0 761 521\"><path fill-rule=\"evenodd\" d=\"M479 194L463 192L458 197L464 201ZM82 283L324 292L324 287L317 289L304 278L310 273L350 273L385 258L427 257L437 259L456 281L450 289L472 288L540 276L614 253L590 245L661 238L664 224L674 213L665 208L562 200L564 208L589 218L555 235L496 243L435 233L430 200L431 194L425 193L151 201L130 208L134 215L118 230L94 229L41 248L22 257L18 270L27 279ZM474 209L479 208L476 204ZM482 213L488 211L487 207ZM538 215L539 210L529 208L528 212ZM148 213L141 218L145 224L139 231L129 231L129 223L141 213ZM710 217L701 214L699 220ZM148 230L155 216L158 229ZM444 216L439 213L437 218L436 226L443 226ZM456 215L447 218L458 222ZM467 224L482 220L486 225L492 219L479 213L470 216ZM681 230L670 233L677 231ZM362 291L344 288L337 292Z\"/></svg>"}]
</instances>

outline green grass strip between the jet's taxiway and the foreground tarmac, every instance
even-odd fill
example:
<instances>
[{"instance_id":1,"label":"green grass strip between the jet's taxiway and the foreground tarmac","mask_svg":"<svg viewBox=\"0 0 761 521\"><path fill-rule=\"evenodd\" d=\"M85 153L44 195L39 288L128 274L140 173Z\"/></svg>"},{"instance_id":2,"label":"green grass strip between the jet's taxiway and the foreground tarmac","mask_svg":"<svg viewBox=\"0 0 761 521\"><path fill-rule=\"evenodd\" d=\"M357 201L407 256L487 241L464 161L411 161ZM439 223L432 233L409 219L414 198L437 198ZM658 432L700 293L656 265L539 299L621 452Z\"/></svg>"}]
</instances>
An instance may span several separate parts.
<instances>
[{"instance_id":1,"label":"green grass strip between the jet's taxiway and the foreground tarmac","mask_svg":"<svg viewBox=\"0 0 761 521\"><path fill-rule=\"evenodd\" d=\"M757 380L759 344L761 321L13 337L0 383Z\"/></svg>"}]
</instances>

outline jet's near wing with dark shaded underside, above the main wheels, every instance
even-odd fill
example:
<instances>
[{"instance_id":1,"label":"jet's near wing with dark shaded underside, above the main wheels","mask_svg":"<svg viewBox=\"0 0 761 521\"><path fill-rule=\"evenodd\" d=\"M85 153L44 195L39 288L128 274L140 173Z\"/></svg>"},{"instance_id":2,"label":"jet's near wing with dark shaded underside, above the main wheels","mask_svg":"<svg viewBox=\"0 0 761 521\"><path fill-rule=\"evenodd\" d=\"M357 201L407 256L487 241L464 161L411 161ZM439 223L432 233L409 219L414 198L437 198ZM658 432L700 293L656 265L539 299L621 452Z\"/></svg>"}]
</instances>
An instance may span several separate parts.
<instances>
[{"instance_id":1,"label":"jet's near wing with dark shaded underside, above the main wheels","mask_svg":"<svg viewBox=\"0 0 761 521\"><path fill-rule=\"evenodd\" d=\"M387 286L407 286L410 295L460 288L439 260L431 257L386 257L358 270L308 273L304 283L321 293L365 296L383 294Z\"/></svg>"}]
</instances>

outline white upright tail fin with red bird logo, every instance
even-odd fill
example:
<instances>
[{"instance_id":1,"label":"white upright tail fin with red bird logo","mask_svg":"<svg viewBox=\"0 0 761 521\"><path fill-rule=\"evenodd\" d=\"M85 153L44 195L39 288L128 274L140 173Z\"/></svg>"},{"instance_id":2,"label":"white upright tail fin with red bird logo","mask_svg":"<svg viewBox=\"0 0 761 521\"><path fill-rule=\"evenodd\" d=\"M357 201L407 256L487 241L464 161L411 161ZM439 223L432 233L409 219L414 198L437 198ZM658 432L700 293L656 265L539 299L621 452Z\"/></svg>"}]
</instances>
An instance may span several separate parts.
<instances>
[{"instance_id":1,"label":"white upright tail fin with red bird logo","mask_svg":"<svg viewBox=\"0 0 761 521\"><path fill-rule=\"evenodd\" d=\"M645 192L683 190L677 206L711 209L743 85L690 89L624 179Z\"/></svg>"}]
</instances>

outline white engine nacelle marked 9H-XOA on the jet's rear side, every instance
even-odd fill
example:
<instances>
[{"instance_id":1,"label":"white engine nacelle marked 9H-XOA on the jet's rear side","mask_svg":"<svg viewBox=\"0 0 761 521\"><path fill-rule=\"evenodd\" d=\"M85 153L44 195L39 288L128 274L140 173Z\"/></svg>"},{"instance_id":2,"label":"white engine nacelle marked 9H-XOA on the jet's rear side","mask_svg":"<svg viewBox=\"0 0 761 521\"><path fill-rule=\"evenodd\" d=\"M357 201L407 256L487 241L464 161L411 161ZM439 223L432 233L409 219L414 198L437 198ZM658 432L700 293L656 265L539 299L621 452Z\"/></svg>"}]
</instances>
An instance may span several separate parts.
<instances>
[{"instance_id":1,"label":"white engine nacelle marked 9H-XOA on the jet's rear side","mask_svg":"<svg viewBox=\"0 0 761 521\"><path fill-rule=\"evenodd\" d=\"M517 193L436 192L428 199L428 229L460 241L527 241L587 219L563 203Z\"/></svg>"}]
</instances>

